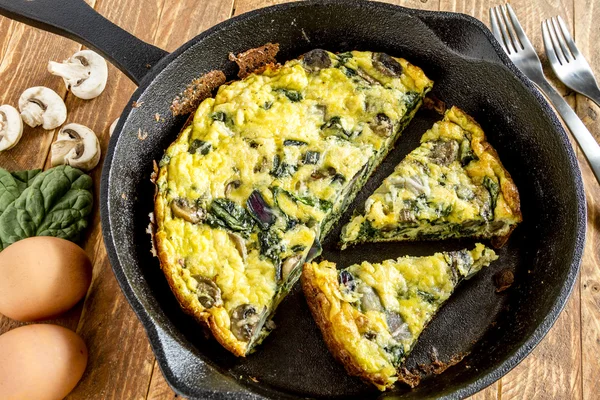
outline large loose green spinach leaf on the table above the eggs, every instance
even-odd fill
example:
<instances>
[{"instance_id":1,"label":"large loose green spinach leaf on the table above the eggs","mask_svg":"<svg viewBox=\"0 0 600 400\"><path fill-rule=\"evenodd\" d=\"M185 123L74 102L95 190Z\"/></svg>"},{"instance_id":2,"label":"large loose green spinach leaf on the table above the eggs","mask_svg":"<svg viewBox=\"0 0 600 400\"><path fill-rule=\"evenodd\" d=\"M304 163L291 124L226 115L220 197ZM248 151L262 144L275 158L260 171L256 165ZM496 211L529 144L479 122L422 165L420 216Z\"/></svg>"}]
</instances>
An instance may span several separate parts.
<instances>
[{"instance_id":1,"label":"large loose green spinach leaf on the table above the eggs","mask_svg":"<svg viewBox=\"0 0 600 400\"><path fill-rule=\"evenodd\" d=\"M0 169L0 250L31 236L75 241L92 211L92 178L62 165L9 173Z\"/></svg>"}]
</instances>

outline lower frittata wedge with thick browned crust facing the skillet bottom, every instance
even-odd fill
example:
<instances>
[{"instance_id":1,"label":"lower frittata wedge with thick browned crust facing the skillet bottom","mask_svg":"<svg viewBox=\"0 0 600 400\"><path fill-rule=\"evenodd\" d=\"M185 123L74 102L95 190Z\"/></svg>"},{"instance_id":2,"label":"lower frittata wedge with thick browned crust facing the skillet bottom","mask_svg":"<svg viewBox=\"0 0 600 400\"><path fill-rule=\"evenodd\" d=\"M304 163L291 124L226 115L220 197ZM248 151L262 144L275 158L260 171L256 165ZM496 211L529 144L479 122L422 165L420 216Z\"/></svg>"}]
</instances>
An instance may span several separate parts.
<instances>
[{"instance_id":1,"label":"lower frittata wedge with thick browned crust facing the skillet bottom","mask_svg":"<svg viewBox=\"0 0 600 400\"><path fill-rule=\"evenodd\" d=\"M477 244L342 270L329 261L306 263L302 287L333 356L350 375L385 390L456 286L497 258Z\"/></svg>"}]
</instances>

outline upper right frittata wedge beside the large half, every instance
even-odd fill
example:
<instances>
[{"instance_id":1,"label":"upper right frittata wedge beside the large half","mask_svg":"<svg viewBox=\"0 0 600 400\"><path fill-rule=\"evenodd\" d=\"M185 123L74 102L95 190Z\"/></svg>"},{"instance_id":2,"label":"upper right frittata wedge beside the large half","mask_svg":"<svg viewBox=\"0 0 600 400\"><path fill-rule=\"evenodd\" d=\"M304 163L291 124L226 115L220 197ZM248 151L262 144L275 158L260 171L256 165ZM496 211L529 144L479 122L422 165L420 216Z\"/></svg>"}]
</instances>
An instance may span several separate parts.
<instances>
[{"instance_id":1,"label":"upper right frittata wedge beside the large half","mask_svg":"<svg viewBox=\"0 0 600 400\"><path fill-rule=\"evenodd\" d=\"M341 242L475 237L501 247L521 220L517 187L498 153L452 107L344 226Z\"/></svg>"}]
</instances>

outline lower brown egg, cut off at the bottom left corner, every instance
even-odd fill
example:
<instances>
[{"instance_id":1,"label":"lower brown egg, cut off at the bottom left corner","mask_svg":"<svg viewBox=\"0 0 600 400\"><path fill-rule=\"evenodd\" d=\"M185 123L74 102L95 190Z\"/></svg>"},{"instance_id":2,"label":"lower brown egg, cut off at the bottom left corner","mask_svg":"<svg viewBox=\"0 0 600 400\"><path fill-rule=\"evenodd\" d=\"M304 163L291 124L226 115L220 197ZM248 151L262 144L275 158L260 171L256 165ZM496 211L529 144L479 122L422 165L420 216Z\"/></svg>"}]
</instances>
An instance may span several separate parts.
<instances>
[{"instance_id":1,"label":"lower brown egg, cut off at the bottom left corner","mask_svg":"<svg viewBox=\"0 0 600 400\"><path fill-rule=\"evenodd\" d=\"M81 379L87 348L73 331L34 324L0 336L0 399L59 400Z\"/></svg>"}]
</instances>

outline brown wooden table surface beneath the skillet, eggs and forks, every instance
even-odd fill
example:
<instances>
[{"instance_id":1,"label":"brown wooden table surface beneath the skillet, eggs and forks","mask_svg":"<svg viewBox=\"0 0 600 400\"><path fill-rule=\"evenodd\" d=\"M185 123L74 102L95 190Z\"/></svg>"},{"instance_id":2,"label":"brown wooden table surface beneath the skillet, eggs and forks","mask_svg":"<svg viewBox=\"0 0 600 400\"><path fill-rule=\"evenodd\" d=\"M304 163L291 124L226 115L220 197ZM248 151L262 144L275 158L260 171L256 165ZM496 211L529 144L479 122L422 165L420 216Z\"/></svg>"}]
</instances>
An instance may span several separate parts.
<instances>
[{"instance_id":1,"label":"brown wooden table surface beneath the skillet, eggs and forks","mask_svg":"<svg viewBox=\"0 0 600 400\"><path fill-rule=\"evenodd\" d=\"M281 0L87 0L99 13L137 37L173 51L188 39L233 15ZM391 0L391 3L428 10L470 14L489 24L488 9L498 0ZM600 78L600 2L597 0L513 0L521 23L543 55L540 24L561 15L579 49ZM58 3L57 3L58 4ZM109 65L104 93L80 100L65 90L60 78L46 71L48 60L61 61L81 45L0 17L0 104L17 105L31 86L47 86L63 96L67 122L93 129L105 151L108 127L117 118L135 85ZM600 138L600 108L575 95L547 75L575 108L589 130ZM13 149L0 153L8 170L47 168L50 144L58 130L25 126ZM600 393L600 187L581 151L576 149L588 201L587 244L581 273L560 318L541 344L512 372L473 399L597 399ZM102 161L101 161L102 163ZM101 165L101 164L100 164ZM95 205L83 243L94 265L93 281L84 301L60 319L49 321L77 331L89 348L89 363L69 399L169 399L177 397L165 382L146 334L121 294L102 241L98 196L101 167L92 173ZM21 325L0 315L0 334Z\"/></svg>"}]
</instances>

